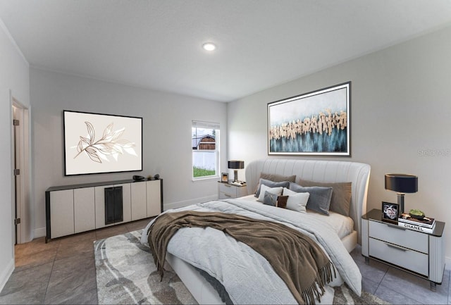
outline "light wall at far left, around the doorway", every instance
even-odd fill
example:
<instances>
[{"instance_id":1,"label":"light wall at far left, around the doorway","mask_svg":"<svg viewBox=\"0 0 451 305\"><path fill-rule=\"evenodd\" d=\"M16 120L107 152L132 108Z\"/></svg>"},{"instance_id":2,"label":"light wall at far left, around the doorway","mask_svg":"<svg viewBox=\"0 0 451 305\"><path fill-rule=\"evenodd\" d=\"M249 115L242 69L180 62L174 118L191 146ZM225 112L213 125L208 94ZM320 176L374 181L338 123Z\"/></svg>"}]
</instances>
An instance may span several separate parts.
<instances>
[{"instance_id":1,"label":"light wall at far left, around the doorway","mask_svg":"<svg viewBox=\"0 0 451 305\"><path fill-rule=\"evenodd\" d=\"M28 63L0 20L0 290L14 268L12 107L14 97L30 106Z\"/></svg>"}]
</instances>

